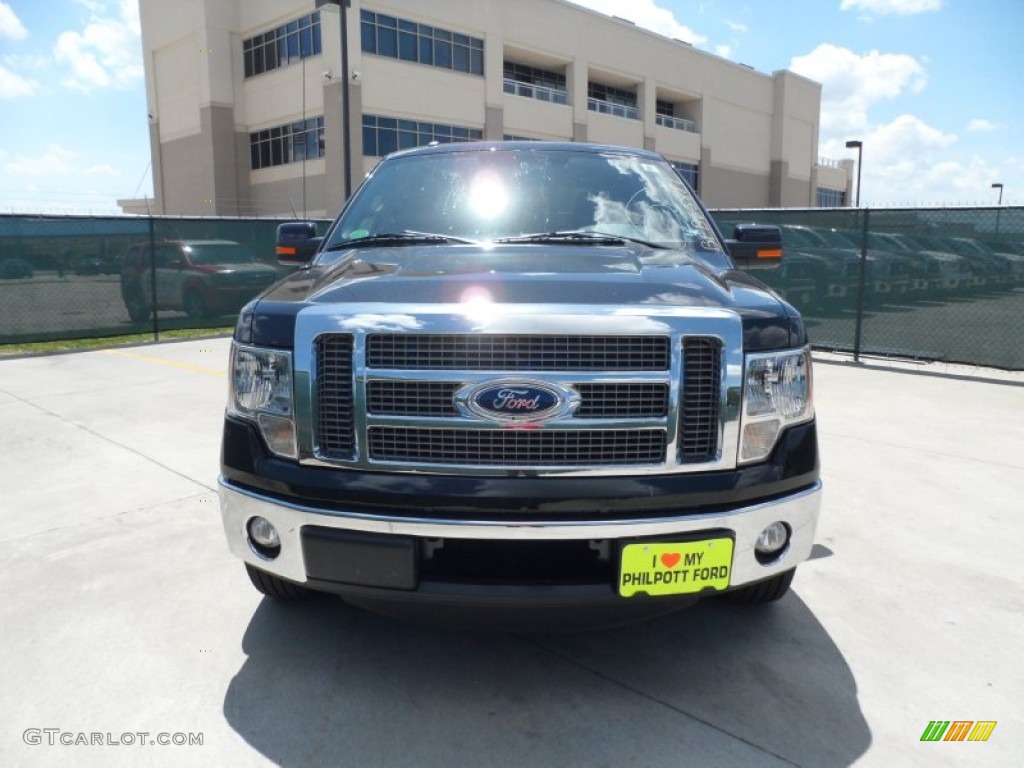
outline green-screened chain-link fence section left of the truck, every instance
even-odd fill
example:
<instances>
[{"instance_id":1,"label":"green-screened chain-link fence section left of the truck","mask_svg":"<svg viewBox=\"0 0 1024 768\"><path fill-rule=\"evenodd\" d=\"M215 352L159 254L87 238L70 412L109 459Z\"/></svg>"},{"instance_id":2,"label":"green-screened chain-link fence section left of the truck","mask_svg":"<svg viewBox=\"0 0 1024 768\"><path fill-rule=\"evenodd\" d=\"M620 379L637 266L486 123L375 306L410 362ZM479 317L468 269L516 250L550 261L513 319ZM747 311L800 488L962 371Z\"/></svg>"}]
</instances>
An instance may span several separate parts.
<instances>
[{"instance_id":1,"label":"green-screened chain-link fence section left of the truck","mask_svg":"<svg viewBox=\"0 0 1024 768\"><path fill-rule=\"evenodd\" d=\"M0 216L0 344L232 326L288 271L279 223Z\"/></svg>"}]
</instances>

